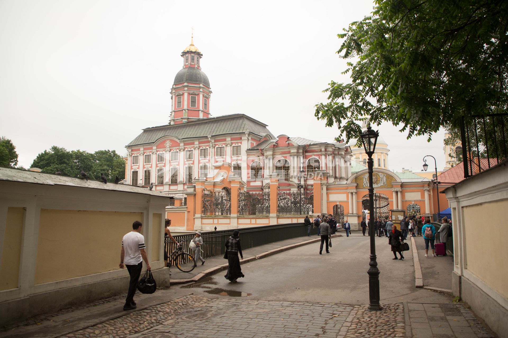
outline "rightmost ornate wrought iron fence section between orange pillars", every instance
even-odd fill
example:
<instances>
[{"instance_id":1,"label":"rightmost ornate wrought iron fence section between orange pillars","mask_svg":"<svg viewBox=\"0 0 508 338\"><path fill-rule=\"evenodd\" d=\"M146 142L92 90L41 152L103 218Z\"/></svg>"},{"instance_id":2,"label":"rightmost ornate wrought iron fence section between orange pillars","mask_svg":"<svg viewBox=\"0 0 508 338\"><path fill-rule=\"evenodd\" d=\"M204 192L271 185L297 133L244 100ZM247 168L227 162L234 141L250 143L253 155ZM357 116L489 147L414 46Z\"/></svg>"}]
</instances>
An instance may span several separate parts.
<instances>
[{"instance_id":1,"label":"rightmost ornate wrought iron fence section between orange pillars","mask_svg":"<svg viewBox=\"0 0 508 338\"><path fill-rule=\"evenodd\" d=\"M308 215L314 211L313 190L279 191L277 193L277 213L279 215Z\"/></svg>"}]
</instances>

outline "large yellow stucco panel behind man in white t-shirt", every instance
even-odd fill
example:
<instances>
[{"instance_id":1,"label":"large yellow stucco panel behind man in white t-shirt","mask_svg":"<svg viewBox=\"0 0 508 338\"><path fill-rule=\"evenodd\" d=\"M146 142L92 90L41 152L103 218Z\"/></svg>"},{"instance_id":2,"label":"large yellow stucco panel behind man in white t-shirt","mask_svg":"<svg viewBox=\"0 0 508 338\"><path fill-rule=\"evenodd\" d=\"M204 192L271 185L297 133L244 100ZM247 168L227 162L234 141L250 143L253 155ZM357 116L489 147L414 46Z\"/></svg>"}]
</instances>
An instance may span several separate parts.
<instances>
[{"instance_id":1,"label":"large yellow stucco panel behind man in white t-shirt","mask_svg":"<svg viewBox=\"0 0 508 338\"><path fill-rule=\"evenodd\" d=\"M135 220L143 213L41 209L35 284L118 269Z\"/></svg>"}]
</instances>

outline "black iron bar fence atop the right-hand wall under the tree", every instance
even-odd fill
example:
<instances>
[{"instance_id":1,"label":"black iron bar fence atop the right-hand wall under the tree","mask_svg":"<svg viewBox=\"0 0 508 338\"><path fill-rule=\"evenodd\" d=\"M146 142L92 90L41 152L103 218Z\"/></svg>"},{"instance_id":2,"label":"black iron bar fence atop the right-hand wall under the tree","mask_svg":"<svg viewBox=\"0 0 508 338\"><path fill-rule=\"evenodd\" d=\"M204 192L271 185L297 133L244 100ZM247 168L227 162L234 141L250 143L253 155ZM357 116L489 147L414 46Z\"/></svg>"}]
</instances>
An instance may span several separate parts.
<instances>
[{"instance_id":1,"label":"black iron bar fence atop the right-hand wall under the tree","mask_svg":"<svg viewBox=\"0 0 508 338\"><path fill-rule=\"evenodd\" d=\"M452 154L464 166L464 178L508 158L508 114L471 116L460 121L461 146Z\"/></svg>"}]
</instances>

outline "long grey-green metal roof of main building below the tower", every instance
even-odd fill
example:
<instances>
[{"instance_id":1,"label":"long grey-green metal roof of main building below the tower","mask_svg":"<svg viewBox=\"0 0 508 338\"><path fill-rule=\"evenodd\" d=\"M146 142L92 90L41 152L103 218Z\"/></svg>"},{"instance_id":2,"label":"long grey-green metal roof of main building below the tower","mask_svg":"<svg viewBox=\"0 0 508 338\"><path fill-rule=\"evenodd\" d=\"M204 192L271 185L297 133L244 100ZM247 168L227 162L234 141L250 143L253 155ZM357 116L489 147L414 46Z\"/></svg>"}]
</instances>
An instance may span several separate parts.
<instances>
[{"instance_id":1,"label":"long grey-green metal roof of main building below the tower","mask_svg":"<svg viewBox=\"0 0 508 338\"><path fill-rule=\"evenodd\" d=\"M186 138L218 136L227 134L253 133L259 136L268 134L274 138L267 125L244 114L218 116L187 123L165 125L143 129L128 146L151 144L161 137L172 136L178 140Z\"/></svg>"}]
</instances>

